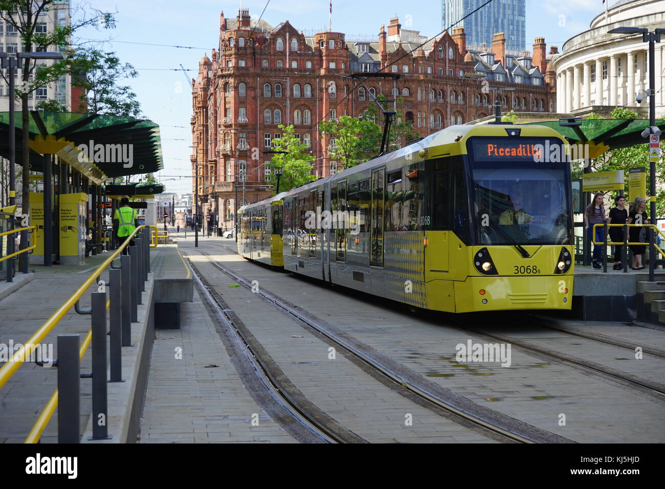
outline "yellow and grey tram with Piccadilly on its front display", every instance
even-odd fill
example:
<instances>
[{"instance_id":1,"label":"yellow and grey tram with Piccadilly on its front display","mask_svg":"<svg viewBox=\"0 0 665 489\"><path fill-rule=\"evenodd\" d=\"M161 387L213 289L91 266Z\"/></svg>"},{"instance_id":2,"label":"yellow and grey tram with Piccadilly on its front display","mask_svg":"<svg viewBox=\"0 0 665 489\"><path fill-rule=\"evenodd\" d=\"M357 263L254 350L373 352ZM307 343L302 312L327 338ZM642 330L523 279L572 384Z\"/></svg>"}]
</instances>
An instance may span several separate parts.
<instances>
[{"instance_id":1,"label":"yellow and grey tram with Piccadilly on its front display","mask_svg":"<svg viewBox=\"0 0 665 489\"><path fill-rule=\"evenodd\" d=\"M238 252L425 309L570 309L567 154L545 126L450 126L244 206Z\"/></svg>"}]
</instances>

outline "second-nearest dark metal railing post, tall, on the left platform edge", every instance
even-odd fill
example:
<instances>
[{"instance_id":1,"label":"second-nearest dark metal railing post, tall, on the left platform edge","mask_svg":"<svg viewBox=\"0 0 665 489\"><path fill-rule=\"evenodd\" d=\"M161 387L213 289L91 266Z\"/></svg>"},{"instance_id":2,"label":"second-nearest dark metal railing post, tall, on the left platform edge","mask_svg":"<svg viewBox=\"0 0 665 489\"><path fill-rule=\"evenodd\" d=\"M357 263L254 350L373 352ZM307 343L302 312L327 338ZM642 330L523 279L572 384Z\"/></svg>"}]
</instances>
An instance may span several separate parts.
<instances>
[{"instance_id":1,"label":"second-nearest dark metal railing post, tall, on the left platform edge","mask_svg":"<svg viewBox=\"0 0 665 489\"><path fill-rule=\"evenodd\" d=\"M108 440L106 392L106 293L90 294L92 303L92 436Z\"/></svg>"}]
</instances>

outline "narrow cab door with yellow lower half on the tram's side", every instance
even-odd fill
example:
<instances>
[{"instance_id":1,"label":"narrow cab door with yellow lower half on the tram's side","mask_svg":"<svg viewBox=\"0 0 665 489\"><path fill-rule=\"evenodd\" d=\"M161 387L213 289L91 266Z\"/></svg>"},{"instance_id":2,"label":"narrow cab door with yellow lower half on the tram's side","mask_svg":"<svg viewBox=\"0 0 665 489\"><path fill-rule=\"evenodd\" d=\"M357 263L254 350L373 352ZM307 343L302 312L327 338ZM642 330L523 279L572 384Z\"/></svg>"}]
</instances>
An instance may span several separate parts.
<instances>
[{"instance_id":1,"label":"narrow cab door with yellow lower half on the tram's side","mask_svg":"<svg viewBox=\"0 0 665 489\"><path fill-rule=\"evenodd\" d=\"M449 214L452 208L450 172L434 172L432 185L430 195L434 222L432 222L432 232L428 233L428 247L425 252L432 249L436 249L436 252L430 253L426 261L430 263L430 271L448 271Z\"/></svg>"}]
</instances>

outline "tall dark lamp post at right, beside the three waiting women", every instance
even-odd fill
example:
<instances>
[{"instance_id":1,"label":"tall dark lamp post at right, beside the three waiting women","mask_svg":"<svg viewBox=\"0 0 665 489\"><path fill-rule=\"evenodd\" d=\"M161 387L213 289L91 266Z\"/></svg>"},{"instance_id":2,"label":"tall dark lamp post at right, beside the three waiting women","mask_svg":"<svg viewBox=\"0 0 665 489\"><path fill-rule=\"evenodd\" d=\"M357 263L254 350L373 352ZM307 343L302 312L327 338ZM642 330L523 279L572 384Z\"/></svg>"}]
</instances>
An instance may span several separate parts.
<instances>
[{"instance_id":1,"label":"tall dark lamp post at right, beside the three waiting women","mask_svg":"<svg viewBox=\"0 0 665 489\"><path fill-rule=\"evenodd\" d=\"M657 134L660 138L660 130L656 127L656 43L660 43L660 35L665 29L656 29L649 32L645 27L616 27L607 31L610 34L642 34L642 42L649 43L649 130L642 132L642 136L648 138L650 134ZM628 94L632 98L635 94ZM660 139L659 139L660 140ZM659 155L660 156L660 155ZM649 164L649 200L651 202L651 222L656 223L656 161L650 158ZM654 281L654 270L656 269L656 253L654 247L654 231L649 230L649 281Z\"/></svg>"}]
</instances>

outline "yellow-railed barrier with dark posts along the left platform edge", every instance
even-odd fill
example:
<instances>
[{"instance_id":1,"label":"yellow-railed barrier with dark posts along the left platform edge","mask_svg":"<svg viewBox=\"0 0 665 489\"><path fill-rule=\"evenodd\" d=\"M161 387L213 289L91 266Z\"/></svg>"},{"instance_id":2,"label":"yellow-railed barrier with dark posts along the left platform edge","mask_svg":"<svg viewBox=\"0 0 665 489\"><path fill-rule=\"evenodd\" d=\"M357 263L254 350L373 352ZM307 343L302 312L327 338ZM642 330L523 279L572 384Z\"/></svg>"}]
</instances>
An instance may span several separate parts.
<instances>
[{"instance_id":1,"label":"yellow-railed barrier with dark posts along the left platform edge","mask_svg":"<svg viewBox=\"0 0 665 489\"><path fill-rule=\"evenodd\" d=\"M43 412L30 430L25 443L37 443L45 430L55 408L60 405L58 416L58 441L61 443L80 442L80 379L92 379L92 439L109 438L106 397L106 310L110 309L110 382L122 381L121 347L131 346L131 323L138 321L138 305L142 304L141 293L146 291L145 282L150 272L149 228L139 226L126 241L99 265L86 281L41 325L35 333L13 354L13 357L0 368L0 389L13 377L16 371L31 359L38 345L53 331L65 314L74 307L78 314L90 315L92 327L79 347L80 335L58 335L58 388L51 395ZM130 240L134 238L134 245ZM153 240L155 245L156 241ZM113 264L127 248L128 254L120 256L120 266ZM99 277L110 266L109 299L106 299L106 283ZM90 294L92 307L82 310L80 298L88 287L96 283L98 291ZM80 374L80 360L88 345L92 343L92 373Z\"/></svg>"}]
</instances>

